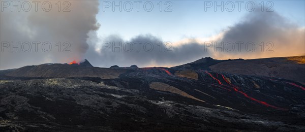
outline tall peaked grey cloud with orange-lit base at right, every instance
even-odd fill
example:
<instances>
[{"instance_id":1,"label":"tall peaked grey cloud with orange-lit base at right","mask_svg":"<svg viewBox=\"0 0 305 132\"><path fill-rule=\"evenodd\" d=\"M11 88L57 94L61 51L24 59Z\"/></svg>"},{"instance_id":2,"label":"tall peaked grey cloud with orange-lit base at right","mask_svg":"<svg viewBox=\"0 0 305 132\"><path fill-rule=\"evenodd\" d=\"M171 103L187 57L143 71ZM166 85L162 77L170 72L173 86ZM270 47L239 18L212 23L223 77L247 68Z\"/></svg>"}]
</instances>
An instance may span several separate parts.
<instances>
[{"instance_id":1,"label":"tall peaked grey cloud with orange-lit base at right","mask_svg":"<svg viewBox=\"0 0 305 132\"><path fill-rule=\"evenodd\" d=\"M215 52L212 56L219 59L229 58L263 58L263 57L283 57L305 55L305 32L304 27L298 27L290 20L279 15L277 12L262 12L256 10L250 12L239 23L229 27L221 39L216 40L221 42L243 42L241 51L233 52ZM246 43L253 42L255 50L249 52L246 50ZM261 42L264 42L262 51ZM273 43L266 45L268 42ZM225 47L232 49L232 46ZM249 46L252 49L252 46ZM273 52L272 52L273 51Z\"/></svg>"}]
</instances>

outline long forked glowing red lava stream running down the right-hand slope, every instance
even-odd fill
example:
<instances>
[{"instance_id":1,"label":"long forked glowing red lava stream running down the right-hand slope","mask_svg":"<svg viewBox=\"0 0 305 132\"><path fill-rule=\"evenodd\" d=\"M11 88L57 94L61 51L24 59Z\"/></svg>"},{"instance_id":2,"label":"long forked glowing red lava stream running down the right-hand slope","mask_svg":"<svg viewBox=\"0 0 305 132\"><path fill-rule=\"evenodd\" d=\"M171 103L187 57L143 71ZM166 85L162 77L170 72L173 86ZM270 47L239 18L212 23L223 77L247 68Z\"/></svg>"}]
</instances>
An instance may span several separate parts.
<instances>
[{"instance_id":1,"label":"long forked glowing red lava stream running down the right-hand slope","mask_svg":"<svg viewBox=\"0 0 305 132\"><path fill-rule=\"evenodd\" d=\"M220 80L218 80L217 78L213 77L213 76L212 76L210 73L208 73L207 71L205 71L205 73L207 73L207 74L208 74L211 78L213 78L214 80L218 81L218 83L219 83L220 85L226 86L226 87L230 87L230 86L227 86L227 85L222 84ZM221 76L223 77L223 79L224 79L228 84L230 84L231 86L233 86L233 87L230 87L230 88L233 88L234 91L241 93L243 96L249 98L250 100L255 101L255 102L259 103L259 104L262 104L262 105L264 105L264 106L266 106L266 107L271 107L271 108L273 108L273 109L287 110L287 109L284 109L284 108L279 108L279 107L276 107L276 106L269 105L269 104L266 103L266 102L259 101L259 100L257 100L256 98L253 98L253 97L249 96L249 95L246 94L245 92L239 91L239 90L237 89L236 86L232 85L231 83L229 83L229 82L227 81L227 79L225 79L224 75L221 75ZM293 84L292 84L292 85L293 85ZM298 86L298 85L297 85L297 86ZM301 86L300 86L300 87L301 87Z\"/></svg>"}]
</instances>

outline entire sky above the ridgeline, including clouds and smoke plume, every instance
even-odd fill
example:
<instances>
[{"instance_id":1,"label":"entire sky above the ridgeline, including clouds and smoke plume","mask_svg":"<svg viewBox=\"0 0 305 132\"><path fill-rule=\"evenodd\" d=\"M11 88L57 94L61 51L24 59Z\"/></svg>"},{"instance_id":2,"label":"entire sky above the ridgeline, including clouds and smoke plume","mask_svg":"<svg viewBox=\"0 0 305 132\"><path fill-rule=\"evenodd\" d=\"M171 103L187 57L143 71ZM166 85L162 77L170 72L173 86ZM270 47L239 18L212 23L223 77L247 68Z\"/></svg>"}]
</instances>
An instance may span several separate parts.
<instances>
[{"instance_id":1,"label":"entire sky above the ridgeline, including clouds and smoke plume","mask_svg":"<svg viewBox=\"0 0 305 132\"><path fill-rule=\"evenodd\" d=\"M20 11L11 2L1 1L0 70L305 55L304 1L41 1L37 11L33 1L20 1Z\"/></svg>"}]
</instances>

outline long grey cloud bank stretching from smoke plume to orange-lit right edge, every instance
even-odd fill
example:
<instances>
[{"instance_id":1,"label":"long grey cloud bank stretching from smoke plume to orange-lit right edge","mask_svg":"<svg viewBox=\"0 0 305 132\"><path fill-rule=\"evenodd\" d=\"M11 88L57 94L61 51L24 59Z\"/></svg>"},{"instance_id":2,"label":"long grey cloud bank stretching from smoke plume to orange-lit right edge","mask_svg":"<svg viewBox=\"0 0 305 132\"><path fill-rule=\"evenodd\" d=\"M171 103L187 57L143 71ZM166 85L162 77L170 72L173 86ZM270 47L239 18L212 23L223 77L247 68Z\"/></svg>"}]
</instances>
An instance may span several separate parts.
<instances>
[{"instance_id":1,"label":"long grey cloud bank stretching from smoke plume to orange-lit right edge","mask_svg":"<svg viewBox=\"0 0 305 132\"><path fill-rule=\"evenodd\" d=\"M87 52L86 57L92 59L94 65L102 67L110 67L115 64L124 67L132 64L137 64L139 67L170 67L207 56L215 59L253 59L305 55L304 28L298 27L276 12L261 12L260 10L249 12L241 21L224 29L219 35L210 37L209 40L206 38L187 38L172 42L171 52L164 52L164 49L169 46L165 45L165 42L163 42L162 52L160 52L162 40L152 35L139 35L129 41L116 35L95 40L97 40L95 43L100 43L100 45L92 47ZM105 48L105 45L102 44L105 42L115 45L119 45L121 42L120 47L123 48L121 51L114 48L115 51L113 51L111 44ZM131 52L124 50L126 42L132 43L133 50ZM139 51L136 50L135 42L142 43ZM145 51L143 48L146 42L151 42L154 50ZM209 44L205 42L211 42L214 46L209 47ZM216 48L216 44L219 46L222 42L222 48ZM234 49L228 42L232 42ZM241 44L239 46L236 43ZM129 49L129 46L127 47Z\"/></svg>"}]
</instances>

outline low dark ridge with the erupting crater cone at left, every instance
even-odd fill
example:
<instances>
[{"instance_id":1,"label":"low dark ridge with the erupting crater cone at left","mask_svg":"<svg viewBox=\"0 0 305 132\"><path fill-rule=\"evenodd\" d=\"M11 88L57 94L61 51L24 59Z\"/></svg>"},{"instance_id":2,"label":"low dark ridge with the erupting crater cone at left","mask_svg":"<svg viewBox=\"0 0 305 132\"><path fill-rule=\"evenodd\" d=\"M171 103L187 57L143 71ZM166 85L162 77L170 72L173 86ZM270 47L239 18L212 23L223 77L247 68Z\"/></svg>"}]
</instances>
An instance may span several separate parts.
<instances>
[{"instance_id":1,"label":"low dark ridge with the erupting crater cone at left","mask_svg":"<svg viewBox=\"0 0 305 132\"><path fill-rule=\"evenodd\" d=\"M128 72L125 69L107 69L93 67L85 59L79 64L41 64L22 67L4 75L9 77L32 78L62 78L62 77L99 77L104 79L117 78L120 74Z\"/></svg>"}]
</instances>

